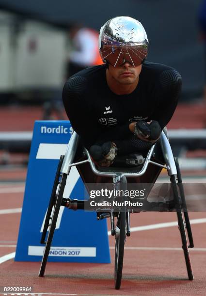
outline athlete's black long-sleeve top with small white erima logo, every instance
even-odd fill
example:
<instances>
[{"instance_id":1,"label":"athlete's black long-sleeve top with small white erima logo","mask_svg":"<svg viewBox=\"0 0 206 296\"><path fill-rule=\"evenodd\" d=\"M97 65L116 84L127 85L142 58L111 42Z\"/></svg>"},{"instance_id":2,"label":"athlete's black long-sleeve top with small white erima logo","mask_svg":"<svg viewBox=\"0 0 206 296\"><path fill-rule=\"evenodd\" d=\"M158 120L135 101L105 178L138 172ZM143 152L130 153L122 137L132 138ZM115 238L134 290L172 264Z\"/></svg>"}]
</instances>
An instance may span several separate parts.
<instances>
[{"instance_id":1,"label":"athlete's black long-sleeve top with small white erima logo","mask_svg":"<svg viewBox=\"0 0 206 296\"><path fill-rule=\"evenodd\" d=\"M144 62L136 89L117 95L107 85L106 65L100 65L68 79L63 104L86 148L109 140L118 146L120 141L127 145L131 139L131 122L157 120L163 129L174 114L180 91L181 76L175 69Z\"/></svg>"}]
</instances>

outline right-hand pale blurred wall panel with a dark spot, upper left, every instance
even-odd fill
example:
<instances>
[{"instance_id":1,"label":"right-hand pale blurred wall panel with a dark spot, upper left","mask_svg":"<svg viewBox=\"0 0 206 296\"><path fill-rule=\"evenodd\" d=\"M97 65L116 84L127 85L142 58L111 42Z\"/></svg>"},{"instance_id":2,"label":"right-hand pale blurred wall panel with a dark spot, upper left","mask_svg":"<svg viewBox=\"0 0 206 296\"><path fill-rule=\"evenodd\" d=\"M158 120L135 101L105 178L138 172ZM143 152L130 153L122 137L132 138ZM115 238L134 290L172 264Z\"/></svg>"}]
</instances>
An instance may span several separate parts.
<instances>
[{"instance_id":1,"label":"right-hand pale blurred wall panel with a dark spot, upper left","mask_svg":"<svg viewBox=\"0 0 206 296\"><path fill-rule=\"evenodd\" d=\"M58 88L63 84L65 33L27 21L16 48L16 88Z\"/></svg>"}]
</instances>

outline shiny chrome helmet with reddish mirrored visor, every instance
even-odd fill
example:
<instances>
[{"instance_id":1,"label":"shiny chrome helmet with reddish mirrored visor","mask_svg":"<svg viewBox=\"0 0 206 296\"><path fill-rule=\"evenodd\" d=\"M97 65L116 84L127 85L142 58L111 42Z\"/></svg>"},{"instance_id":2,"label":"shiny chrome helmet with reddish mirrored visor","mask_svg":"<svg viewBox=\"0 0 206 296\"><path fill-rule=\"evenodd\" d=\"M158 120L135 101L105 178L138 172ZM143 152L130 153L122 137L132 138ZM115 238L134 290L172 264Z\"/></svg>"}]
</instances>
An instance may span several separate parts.
<instances>
[{"instance_id":1,"label":"shiny chrome helmet with reddish mirrored visor","mask_svg":"<svg viewBox=\"0 0 206 296\"><path fill-rule=\"evenodd\" d=\"M147 34L138 20L117 16L101 27L98 47L104 63L109 62L113 67L118 67L127 61L136 67L147 57Z\"/></svg>"}]
</instances>

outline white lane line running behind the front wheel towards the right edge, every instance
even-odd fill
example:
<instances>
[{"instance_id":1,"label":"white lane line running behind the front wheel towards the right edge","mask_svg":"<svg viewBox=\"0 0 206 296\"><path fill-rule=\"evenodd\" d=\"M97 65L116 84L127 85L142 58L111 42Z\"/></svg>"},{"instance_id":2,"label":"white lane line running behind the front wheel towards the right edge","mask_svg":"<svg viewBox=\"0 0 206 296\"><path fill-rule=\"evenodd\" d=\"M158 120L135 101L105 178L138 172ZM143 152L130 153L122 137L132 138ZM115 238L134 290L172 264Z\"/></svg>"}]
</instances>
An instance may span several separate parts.
<instances>
[{"instance_id":1,"label":"white lane line running behind the front wheel towards the right edge","mask_svg":"<svg viewBox=\"0 0 206 296\"><path fill-rule=\"evenodd\" d=\"M206 218L190 220L190 224L199 224L199 223L206 223ZM177 226L177 221L131 227L130 231L135 232L135 231L158 229L158 228L165 228L165 227L172 227L172 226ZM111 231L108 231L108 236L110 235L111 235Z\"/></svg>"}]
</instances>

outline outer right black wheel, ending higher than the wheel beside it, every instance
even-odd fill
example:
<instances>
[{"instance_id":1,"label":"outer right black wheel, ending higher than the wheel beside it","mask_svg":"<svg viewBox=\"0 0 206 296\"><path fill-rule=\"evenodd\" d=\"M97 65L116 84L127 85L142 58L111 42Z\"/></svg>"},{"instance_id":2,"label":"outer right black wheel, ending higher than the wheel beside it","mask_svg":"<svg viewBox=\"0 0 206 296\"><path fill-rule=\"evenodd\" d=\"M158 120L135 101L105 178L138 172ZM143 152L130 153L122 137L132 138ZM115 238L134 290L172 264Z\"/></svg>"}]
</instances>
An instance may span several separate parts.
<instances>
[{"instance_id":1,"label":"outer right black wheel, ending higher than the wheel beside it","mask_svg":"<svg viewBox=\"0 0 206 296\"><path fill-rule=\"evenodd\" d=\"M182 177L181 177L181 172L180 172L180 167L179 167L179 162L178 158L174 158L174 162L176 165L176 170L177 170L177 180L178 180L178 186L179 186L179 191L180 191L180 197L182 200L182 204L184 205L184 217L185 217L185 223L186 223L186 229L188 232L188 238L190 242L190 248L194 248L194 242L193 242L193 237L192 237L192 232L191 232L191 226L190 226L190 218L189 214L187 211L187 205L186 205L186 200L185 200L185 193L184 193L184 188L182 185Z\"/></svg>"}]
</instances>

